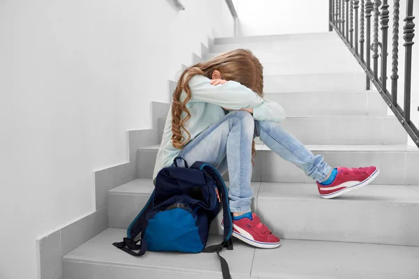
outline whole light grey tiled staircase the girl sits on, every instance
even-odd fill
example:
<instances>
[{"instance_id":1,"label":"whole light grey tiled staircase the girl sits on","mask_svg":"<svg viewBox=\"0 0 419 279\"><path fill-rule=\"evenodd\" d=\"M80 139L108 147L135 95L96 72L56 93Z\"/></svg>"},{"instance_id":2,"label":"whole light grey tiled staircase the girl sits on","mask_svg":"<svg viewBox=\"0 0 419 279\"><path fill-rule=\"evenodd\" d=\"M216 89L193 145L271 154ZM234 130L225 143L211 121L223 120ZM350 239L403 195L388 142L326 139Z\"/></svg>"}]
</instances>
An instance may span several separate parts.
<instances>
[{"instance_id":1,"label":"whole light grey tiled staircase the girl sits on","mask_svg":"<svg viewBox=\"0 0 419 279\"><path fill-rule=\"evenodd\" d=\"M262 142L253 168L253 210L282 244L261 250L235 241L222 252L233 279L419 278L419 150L335 33L219 38L210 57L249 48L265 66L266 98L284 106L284 128L332 166L377 165L370 186L321 199L316 184ZM155 119L162 129L164 119ZM159 146L138 149L138 179L108 191L109 229L62 259L63 279L221 278L214 254L128 255L126 235L154 188ZM226 179L228 177L226 176ZM221 215L210 243L220 241Z\"/></svg>"}]
</instances>

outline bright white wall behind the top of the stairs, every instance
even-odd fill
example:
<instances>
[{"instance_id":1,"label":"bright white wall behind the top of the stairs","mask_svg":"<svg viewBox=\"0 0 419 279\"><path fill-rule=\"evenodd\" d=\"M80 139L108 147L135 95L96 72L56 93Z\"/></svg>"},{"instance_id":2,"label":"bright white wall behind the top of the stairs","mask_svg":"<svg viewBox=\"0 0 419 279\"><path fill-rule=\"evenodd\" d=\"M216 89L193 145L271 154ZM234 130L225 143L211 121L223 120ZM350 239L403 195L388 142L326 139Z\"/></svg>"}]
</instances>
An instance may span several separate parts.
<instances>
[{"instance_id":1,"label":"bright white wall behind the top of the stairs","mask_svg":"<svg viewBox=\"0 0 419 279\"><path fill-rule=\"evenodd\" d=\"M328 31L328 0L236 0L240 36Z\"/></svg>"}]
</instances>

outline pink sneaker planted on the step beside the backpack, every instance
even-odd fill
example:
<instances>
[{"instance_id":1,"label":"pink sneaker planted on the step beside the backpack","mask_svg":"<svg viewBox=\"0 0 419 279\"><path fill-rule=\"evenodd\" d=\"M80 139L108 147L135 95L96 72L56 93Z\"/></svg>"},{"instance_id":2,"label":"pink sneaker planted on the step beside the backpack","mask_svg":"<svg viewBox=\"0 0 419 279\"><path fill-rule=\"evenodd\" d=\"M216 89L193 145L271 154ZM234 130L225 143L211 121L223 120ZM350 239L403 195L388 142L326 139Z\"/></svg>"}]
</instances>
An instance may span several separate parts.
<instances>
[{"instance_id":1,"label":"pink sneaker planted on the step beside the backpack","mask_svg":"<svg viewBox=\"0 0 419 279\"><path fill-rule=\"evenodd\" d=\"M281 245L281 240L260 223L256 213L248 214L249 216L233 220L233 236L258 248L277 248ZM224 228L223 223L221 227Z\"/></svg>"}]
</instances>

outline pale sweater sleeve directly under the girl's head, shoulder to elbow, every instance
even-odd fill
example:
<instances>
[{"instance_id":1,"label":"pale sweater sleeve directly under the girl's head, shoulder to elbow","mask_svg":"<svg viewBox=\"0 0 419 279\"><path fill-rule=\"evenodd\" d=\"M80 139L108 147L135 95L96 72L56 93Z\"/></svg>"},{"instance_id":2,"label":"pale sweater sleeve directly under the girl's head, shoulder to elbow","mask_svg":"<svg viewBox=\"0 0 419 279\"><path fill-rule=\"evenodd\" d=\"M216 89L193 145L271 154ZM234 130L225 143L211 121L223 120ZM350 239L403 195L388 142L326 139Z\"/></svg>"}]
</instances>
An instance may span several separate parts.
<instances>
[{"instance_id":1,"label":"pale sweater sleeve directly under the girl's head, shoulder to elbow","mask_svg":"<svg viewBox=\"0 0 419 279\"><path fill-rule=\"evenodd\" d=\"M192 93L190 102L212 103L230 110L253 108L263 103L257 93L233 80L214 86L207 77L195 75L189 81L189 88Z\"/></svg>"}]
</instances>

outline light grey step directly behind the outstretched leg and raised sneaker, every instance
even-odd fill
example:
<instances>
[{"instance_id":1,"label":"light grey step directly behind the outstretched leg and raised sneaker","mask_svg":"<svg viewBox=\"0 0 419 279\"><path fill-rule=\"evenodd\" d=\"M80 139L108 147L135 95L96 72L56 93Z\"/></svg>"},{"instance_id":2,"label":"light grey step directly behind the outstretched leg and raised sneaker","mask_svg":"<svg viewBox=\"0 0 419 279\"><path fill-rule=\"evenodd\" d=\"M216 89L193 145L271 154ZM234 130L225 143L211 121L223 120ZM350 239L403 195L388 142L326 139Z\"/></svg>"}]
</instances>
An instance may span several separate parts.
<instances>
[{"instance_id":1,"label":"light grey step directly behind the outstretched leg and raised sneaker","mask_svg":"<svg viewBox=\"0 0 419 279\"><path fill-rule=\"evenodd\" d=\"M385 185L419 185L419 150L406 144L307 144L315 155L321 154L332 167L362 167L376 165L380 175L372 182ZM252 181L312 183L301 169L280 158L267 146L256 144ZM138 177L152 178L159 145L138 149ZM226 180L228 180L226 178Z\"/></svg>"}]
</instances>

